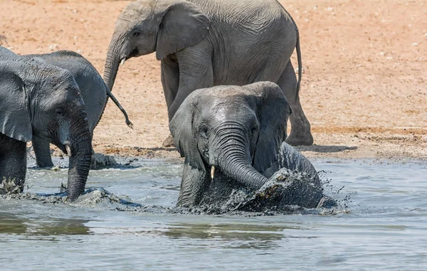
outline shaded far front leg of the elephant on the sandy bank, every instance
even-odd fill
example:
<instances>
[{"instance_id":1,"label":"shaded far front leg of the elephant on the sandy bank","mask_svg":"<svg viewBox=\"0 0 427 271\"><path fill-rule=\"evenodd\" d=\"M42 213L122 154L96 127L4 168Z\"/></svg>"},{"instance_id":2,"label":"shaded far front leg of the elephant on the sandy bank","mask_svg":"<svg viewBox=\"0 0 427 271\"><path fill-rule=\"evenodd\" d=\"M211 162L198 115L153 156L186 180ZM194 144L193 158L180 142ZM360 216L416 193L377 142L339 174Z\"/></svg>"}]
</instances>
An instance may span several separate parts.
<instances>
[{"instance_id":1,"label":"shaded far front leg of the elephant on the sandy bank","mask_svg":"<svg viewBox=\"0 0 427 271\"><path fill-rule=\"evenodd\" d=\"M172 102L174 102L176 93L179 88L179 65L176 61L165 58L162 60L162 85L164 92L164 99L166 100L166 105L169 110ZM169 118L169 122L171 119ZM172 134L169 134L169 137L164 140L162 147L175 147L174 138Z\"/></svg>"}]
</instances>

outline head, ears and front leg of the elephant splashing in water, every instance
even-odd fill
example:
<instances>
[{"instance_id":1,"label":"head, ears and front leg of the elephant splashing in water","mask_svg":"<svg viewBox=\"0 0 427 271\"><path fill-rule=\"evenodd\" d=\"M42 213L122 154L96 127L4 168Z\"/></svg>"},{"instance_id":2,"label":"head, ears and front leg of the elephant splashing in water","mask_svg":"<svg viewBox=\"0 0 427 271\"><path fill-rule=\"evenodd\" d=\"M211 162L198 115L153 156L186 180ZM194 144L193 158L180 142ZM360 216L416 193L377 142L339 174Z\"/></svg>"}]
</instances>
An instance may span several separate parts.
<instances>
[{"instance_id":1,"label":"head, ears and front leg of the elephant splashing in water","mask_svg":"<svg viewBox=\"0 0 427 271\"><path fill-rule=\"evenodd\" d=\"M288 100L274 83L192 92L169 123L185 157L177 205L197 205L215 171L249 189L263 186L268 169L277 167L289 115Z\"/></svg>"}]
</instances>

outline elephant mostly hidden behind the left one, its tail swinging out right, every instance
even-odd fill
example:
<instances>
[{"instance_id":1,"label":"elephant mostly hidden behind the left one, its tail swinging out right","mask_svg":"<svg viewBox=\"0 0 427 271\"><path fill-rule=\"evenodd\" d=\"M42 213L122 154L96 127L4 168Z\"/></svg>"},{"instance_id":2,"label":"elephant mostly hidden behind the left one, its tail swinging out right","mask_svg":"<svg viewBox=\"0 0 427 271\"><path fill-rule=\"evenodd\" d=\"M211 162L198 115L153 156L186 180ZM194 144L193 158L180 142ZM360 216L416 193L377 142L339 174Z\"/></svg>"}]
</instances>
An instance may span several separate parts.
<instances>
[{"instance_id":1,"label":"elephant mostly hidden behind the left one, its tail swinging out right","mask_svg":"<svg viewBox=\"0 0 427 271\"><path fill-rule=\"evenodd\" d=\"M110 97L113 102L122 110L125 115L126 123L132 127L127 117L127 113L120 105L120 102L112 95L107 85L102 80L101 75L95 67L79 53L73 51L57 51L54 53L36 54L36 55L16 55L9 49L0 47L0 60L37 60L41 63L56 65L59 68L68 70L75 82L77 82L80 93L83 95L83 100L86 105L88 114L88 124L90 134L93 136L93 130L100 121L105 105L107 105L107 97ZM34 153L36 155L36 164L40 167L53 166L49 142L40 137L32 139Z\"/></svg>"}]
</instances>

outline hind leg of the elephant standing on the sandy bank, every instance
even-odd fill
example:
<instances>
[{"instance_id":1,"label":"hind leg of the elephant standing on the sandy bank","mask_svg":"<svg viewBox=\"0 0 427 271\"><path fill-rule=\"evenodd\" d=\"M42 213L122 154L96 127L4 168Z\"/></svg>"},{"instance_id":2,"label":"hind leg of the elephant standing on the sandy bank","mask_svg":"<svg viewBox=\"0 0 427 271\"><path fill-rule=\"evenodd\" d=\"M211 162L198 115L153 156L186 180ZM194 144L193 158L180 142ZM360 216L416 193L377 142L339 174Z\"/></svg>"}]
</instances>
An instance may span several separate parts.
<instances>
[{"instance_id":1,"label":"hind leg of the elephant standing on the sandy bank","mask_svg":"<svg viewBox=\"0 0 427 271\"><path fill-rule=\"evenodd\" d=\"M304 111L302 111L300 95L297 92L297 76L295 75L295 70L290 60L288 65L286 65L285 70L283 70L282 75L280 75L278 85L283 90L283 93L288 99L292 109L292 114L290 115L291 131L286 142L293 146L309 146L313 144L310 122L308 122Z\"/></svg>"}]
</instances>

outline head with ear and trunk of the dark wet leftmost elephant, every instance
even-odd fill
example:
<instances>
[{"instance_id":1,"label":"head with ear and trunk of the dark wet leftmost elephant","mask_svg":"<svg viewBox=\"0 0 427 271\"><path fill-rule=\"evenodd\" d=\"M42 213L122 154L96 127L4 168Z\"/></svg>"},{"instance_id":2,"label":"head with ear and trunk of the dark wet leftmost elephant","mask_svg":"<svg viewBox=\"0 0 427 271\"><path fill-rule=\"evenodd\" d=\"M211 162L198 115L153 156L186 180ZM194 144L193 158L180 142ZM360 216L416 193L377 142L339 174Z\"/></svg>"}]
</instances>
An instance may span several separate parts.
<instances>
[{"instance_id":1,"label":"head with ear and trunk of the dark wet leftmost elephant","mask_svg":"<svg viewBox=\"0 0 427 271\"><path fill-rule=\"evenodd\" d=\"M0 133L46 139L70 156L71 201L85 189L92 143L85 104L68 70L39 61L0 61Z\"/></svg>"}]
</instances>

